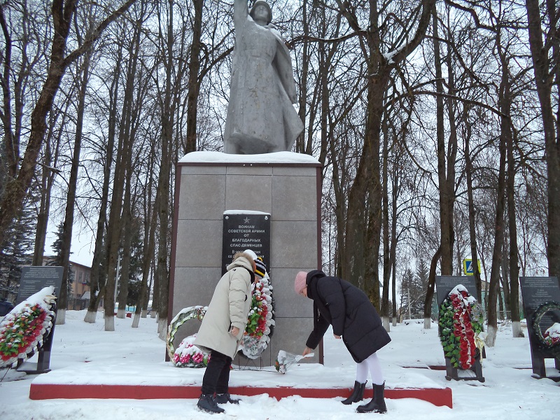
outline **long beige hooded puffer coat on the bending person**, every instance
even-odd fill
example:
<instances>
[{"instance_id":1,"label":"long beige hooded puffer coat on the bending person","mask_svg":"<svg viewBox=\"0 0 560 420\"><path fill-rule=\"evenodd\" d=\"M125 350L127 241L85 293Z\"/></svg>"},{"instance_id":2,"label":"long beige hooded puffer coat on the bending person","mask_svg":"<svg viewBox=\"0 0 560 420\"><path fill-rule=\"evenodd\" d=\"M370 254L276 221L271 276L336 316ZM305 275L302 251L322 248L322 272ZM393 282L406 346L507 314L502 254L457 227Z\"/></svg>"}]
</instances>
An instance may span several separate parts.
<instances>
[{"instance_id":1,"label":"long beige hooded puffer coat on the bending person","mask_svg":"<svg viewBox=\"0 0 560 420\"><path fill-rule=\"evenodd\" d=\"M202 319L196 346L219 351L231 358L235 356L251 307L251 272L253 266L244 257L228 265L228 272L218 281ZM239 328L237 337L230 334L232 327Z\"/></svg>"}]
</instances>

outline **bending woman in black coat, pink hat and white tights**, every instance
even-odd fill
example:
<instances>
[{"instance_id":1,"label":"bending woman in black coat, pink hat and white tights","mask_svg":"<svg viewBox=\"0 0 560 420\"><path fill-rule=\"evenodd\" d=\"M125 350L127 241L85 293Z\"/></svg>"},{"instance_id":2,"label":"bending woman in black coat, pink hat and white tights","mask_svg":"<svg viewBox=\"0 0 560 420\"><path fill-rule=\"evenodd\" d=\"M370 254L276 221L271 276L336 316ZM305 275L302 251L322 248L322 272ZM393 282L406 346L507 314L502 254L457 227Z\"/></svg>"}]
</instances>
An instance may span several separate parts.
<instances>
[{"instance_id":1,"label":"bending woman in black coat, pink hat and white tights","mask_svg":"<svg viewBox=\"0 0 560 420\"><path fill-rule=\"evenodd\" d=\"M374 398L366 405L360 405L357 411L386 412L385 382L376 351L391 342L391 337L365 293L348 281L326 276L318 269L297 273L294 287L296 293L313 300L313 331L307 339L303 355L316 348L329 325L332 325L335 338L342 338L346 349L358 363L353 393L342 403L348 405L362 400L369 372Z\"/></svg>"}]
</instances>

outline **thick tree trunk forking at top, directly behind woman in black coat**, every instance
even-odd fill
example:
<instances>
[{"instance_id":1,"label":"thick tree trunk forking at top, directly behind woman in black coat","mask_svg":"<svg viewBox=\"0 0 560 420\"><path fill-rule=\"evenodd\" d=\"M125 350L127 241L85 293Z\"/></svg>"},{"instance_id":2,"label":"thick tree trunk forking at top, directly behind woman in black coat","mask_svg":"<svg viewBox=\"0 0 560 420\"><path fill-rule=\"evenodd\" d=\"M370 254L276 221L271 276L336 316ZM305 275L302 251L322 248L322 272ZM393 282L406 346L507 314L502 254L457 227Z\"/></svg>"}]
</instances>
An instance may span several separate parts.
<instances>
[{"instance_id":1,"label":"thick tree trunk forking at top, directly behind woman in black coat","mask_svg":"<svg viewBox=\"0 0 560 420\"><path fill-rule=\"evenodd\" d=\"M349 2L337 1L340 12L357 32L363 33L361 48L367 65L367 102L363 150L360 154L356 178L349 190L346 214L346 237L341 254L341 272L344 279L365 290L379 309L379 244L381 241L381 173L379 168L379 132L384 113L384 97L391 73L411 54L426 36L430 10L434 0L421 4L421 13L414 21L416 31L407 34L407 44L396 52L389 62L381 55L379 8L376 0L368 6L367 31L363 30ZM367 214L366 214L367 211Z\"/></svg>"}]
</instances>

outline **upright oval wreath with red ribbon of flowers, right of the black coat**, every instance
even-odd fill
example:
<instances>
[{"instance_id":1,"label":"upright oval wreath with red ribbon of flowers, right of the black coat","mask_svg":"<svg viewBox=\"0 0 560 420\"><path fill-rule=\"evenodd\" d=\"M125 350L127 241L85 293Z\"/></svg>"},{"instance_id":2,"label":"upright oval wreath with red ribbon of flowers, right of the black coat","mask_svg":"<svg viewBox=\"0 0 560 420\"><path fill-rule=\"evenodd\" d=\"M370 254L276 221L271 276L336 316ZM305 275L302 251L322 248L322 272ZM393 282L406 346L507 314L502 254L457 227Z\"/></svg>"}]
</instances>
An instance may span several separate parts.
<instances>
[{"instance_id":1,"label":"upright oval wreath with red ribbon of flowers, right of the black coat","mask_svg":"<svg viewBox=\"0 0 560 420\"><path fill-rule=\"evenodd\" d=\"M446 358L451 365L468 370L475 364L484 342L484 311L468 290L459 284L440 306L438 332Z\"/></svg>"}]
</instances>

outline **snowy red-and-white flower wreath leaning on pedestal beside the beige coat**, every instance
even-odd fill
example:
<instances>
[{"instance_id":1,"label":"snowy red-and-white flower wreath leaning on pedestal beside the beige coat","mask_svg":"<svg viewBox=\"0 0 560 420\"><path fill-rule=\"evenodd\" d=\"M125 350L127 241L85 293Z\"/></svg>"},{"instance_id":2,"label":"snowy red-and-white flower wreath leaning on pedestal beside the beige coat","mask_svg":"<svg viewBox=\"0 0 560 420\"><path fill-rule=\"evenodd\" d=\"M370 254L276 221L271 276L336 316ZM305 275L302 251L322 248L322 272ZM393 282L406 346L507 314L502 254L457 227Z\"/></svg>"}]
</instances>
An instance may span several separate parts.
<instances>
[{"instance_id":1,"label":"snowy red-and-white flower wreath leaning on pedestal beside the beige coat","mask_svg":"<svg viewBox=\"0 0 560 420\"><path fill-rule=\"evenodd\" d=\"M255 282L251 310L248 314L247 326L241 340L241 351L248 358L258 358L270 341L274 319L272 315L272 285L268 273Z\"/></svg>"}]
</instances>

